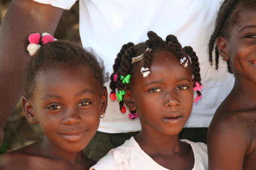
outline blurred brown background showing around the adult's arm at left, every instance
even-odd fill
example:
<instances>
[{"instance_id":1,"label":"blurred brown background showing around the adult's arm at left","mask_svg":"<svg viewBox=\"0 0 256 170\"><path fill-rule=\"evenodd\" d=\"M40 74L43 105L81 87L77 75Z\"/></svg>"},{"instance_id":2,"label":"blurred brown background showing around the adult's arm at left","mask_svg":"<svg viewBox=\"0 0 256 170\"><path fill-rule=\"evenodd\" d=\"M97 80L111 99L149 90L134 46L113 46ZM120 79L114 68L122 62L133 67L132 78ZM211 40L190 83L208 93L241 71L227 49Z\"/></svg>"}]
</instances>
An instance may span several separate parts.
<instances>
[{"instance_id":1,"label":"blurred brown background showing around the adult's arm at left","mask_svg":"<svg viewBox=\"0 0 256 170\"><path fill-rule=\"evenodd\" d=\"M0 24L12 0L0 0ZM70 40L80 43L79 36L79 8L78 1L69 11L64 11L54 38ZM26 36L26 35L24 35ZM4 127L4 141L0 153L18 149L35 142L43 136L39 124L31 124L27 121L20 102L7 120Z\"/></svg>"}]
</instances>

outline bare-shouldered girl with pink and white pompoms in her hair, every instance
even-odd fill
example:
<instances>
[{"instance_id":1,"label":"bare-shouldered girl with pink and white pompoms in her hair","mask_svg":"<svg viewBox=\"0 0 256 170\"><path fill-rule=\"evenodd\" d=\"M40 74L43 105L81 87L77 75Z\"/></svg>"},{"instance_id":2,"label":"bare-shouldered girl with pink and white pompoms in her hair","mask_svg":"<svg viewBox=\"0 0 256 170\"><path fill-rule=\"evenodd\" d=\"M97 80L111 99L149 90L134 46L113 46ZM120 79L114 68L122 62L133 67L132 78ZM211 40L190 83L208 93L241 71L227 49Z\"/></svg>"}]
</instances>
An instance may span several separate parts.
<instances>
[{"instance_id":1,"label":"bare-shouldered girl with pink and white pompoms in her hair","mask_svg":"<svg viewBox=\"0 0 256 170\"><path fill-rule=\"evenodd\" d=\"M49 34L30 34L33 55L24 76L22 107L30 123L40 123L37 142L0 157L0 169L89 169L82 153L104 117L107 80L93 51Z\"/></svg>"}]
</instances>

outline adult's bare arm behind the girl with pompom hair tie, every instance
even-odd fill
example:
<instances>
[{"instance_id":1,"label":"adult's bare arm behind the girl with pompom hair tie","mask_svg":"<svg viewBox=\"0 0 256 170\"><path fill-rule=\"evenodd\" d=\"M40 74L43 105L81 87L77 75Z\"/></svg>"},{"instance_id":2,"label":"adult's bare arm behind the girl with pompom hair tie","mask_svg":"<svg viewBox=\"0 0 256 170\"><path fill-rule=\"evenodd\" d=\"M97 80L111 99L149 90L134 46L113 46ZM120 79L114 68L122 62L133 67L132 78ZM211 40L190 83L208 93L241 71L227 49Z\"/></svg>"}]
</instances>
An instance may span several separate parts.
<instances>
[{"instance_id":1,"label":"adult's bare arm behind the girl with pompom hair tie","mask_svg":"<svg viewBox=\"0 0 256 170\"><path fill-rule=\"evenodd\" d=\"M33 32L53 34L63 9L33 0L13 0L0 26L0 144L4 123L22 95L23 70L30 56L24 38Z\"/></svg>"}]
</instances>

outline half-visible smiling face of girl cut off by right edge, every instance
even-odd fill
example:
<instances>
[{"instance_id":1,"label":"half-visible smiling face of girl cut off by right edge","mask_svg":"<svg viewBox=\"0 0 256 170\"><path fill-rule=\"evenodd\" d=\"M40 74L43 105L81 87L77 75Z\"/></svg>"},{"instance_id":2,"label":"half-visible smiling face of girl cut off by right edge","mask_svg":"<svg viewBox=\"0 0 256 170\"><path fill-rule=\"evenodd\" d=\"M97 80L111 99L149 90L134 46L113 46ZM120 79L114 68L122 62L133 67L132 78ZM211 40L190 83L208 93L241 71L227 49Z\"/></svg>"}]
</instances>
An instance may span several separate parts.
<instances>
[{"instance_id":1,"label":"half-visible smiling face of girl cut off by right edge","mask_svg":"<svg viewBox=\"0 0 256 170\"><path fill-rule=\"evenodd\" d=\"M241 75L256 83L256 6L239 13L239 19L230 31L227 41L229 60L234 75Z\"/></svg>"}]
</instances>

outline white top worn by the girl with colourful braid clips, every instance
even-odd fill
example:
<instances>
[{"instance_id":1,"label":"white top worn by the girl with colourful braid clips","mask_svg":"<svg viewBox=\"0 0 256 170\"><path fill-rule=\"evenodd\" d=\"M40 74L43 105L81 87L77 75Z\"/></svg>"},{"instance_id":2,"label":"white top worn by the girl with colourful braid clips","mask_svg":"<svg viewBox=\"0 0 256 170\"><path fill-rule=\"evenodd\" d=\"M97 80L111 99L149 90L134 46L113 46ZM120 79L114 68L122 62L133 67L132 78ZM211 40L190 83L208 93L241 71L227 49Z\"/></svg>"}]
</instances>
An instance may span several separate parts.
<instances>
[{"instance_id":1,"label":"white top worn by the girl with colourful braid clips","mask_svg":"<svg viewBox=\"0 0 256 170\"><path fill-rule=\"evenodd\" d=\"M182 142L191 145L194 153L195 163L192 170L207 170L208 155L207 146L202 142L191 142L183 139ZM167 170L157 164L147 155L136 140L131 137L124 144L115 149L111 149L106 156L90 168L90 170Z\"/></svg>"}]
</instances>

